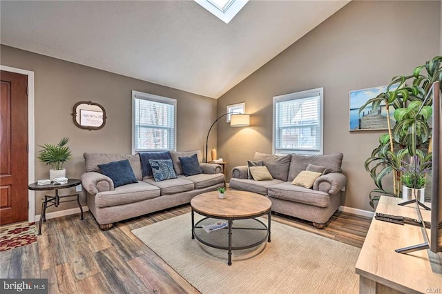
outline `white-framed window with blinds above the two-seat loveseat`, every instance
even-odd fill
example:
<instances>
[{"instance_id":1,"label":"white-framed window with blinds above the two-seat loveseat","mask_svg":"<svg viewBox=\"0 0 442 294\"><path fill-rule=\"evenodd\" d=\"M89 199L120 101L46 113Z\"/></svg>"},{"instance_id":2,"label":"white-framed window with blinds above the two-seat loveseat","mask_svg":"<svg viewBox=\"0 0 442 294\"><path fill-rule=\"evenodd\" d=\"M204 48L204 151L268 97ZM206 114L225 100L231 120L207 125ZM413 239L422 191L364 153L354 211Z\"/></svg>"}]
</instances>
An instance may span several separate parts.
<instances>
[{"instance_id":1,"label":"white-framed window with blinds above the two-seat loveseat","mask_svg":"<svg viewBox=\"0 0 442 294\"><path fill-rule=\"evenodd\" d=\"M273 153L323 154L323 88L273 97Z\"/></svg>"}]
</instances>

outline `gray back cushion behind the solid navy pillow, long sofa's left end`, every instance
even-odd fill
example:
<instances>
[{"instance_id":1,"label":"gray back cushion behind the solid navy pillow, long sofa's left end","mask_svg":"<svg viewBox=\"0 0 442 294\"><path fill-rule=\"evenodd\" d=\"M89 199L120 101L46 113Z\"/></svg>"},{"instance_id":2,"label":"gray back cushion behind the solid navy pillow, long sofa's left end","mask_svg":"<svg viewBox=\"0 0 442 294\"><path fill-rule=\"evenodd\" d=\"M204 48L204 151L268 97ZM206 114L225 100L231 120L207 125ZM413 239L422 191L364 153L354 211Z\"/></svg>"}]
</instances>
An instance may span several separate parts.
<instances>
[{"instance_id":1,"label":"gray back cushion behind the solid navy pillow, long sofa's left end","mask_svg":"<svg viewBox=\"0 0 442 294\"><path fill-rule=\"evenodd\" d=\"M99 164L108 164L112 161L128 159L132 166L133 174L137 180L141 181L143 175L141 172L140 155L125 155L125 154L99 154L99 153L83 153L84 163L86 164L86 171L96 171L99 173Z\"/></svg>"}]
</instances>

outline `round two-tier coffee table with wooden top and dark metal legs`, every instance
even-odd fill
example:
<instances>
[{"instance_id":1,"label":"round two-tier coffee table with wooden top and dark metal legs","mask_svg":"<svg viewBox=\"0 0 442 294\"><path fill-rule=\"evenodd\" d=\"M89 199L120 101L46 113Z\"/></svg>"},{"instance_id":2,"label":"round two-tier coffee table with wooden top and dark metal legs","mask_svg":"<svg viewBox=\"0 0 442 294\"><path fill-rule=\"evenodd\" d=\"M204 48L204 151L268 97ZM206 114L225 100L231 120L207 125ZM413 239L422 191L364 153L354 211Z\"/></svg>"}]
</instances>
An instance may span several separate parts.
<instances>
[{"instance_id":1,"label":"round two-tier coffee table with wooden top and dark metal legs","mask_svg":"<svg viewBox=\"0 0 442 294\"><path fill-rule=\"evenodd\" d=\"M228 251L229 266L232 264L232 250L247 249L270 242L271 201L262 195L227 190L225 199L218 198L218 192L212 191L193 197L192 239L213 248ZM195 224L194 213L205 216ZM268 215L266 226L256 217ZM204 226L217 223L218 219L227 220L227 226L207 233ZM206 227L207 229L207 227ZM235 233L233 233L235 232Z\"/></svg>"}]
</instances>

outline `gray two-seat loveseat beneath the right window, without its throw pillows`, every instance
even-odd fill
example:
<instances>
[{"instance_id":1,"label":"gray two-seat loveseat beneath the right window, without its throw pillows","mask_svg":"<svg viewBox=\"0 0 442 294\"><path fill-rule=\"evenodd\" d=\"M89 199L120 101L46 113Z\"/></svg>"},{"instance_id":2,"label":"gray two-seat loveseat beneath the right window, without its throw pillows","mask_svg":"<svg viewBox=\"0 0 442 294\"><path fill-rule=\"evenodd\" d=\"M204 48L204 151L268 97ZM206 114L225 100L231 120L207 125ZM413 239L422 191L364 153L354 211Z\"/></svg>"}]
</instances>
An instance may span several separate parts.
<instances>
[{"instance_id":1,"label":"gray two-seat loveseat beneath the right window, without its throw pillows","mask_svg":"<svg viewBox=\"0 0 442 294\"><path fill-rule=\"evenodd\" d=\"M347 184L347 177L341 170L342 153L285 156L256 153L253 160L262 160L273 179L249 179L248 166L237 166L232 170L231 189L265 195L271 200L272 211L308 220L316 228L324 228L325 223L338 210L340 190ZM291 184L309 164L326 168L324 174L314 181L313 187Z\"/></svg>"}]
</instances>

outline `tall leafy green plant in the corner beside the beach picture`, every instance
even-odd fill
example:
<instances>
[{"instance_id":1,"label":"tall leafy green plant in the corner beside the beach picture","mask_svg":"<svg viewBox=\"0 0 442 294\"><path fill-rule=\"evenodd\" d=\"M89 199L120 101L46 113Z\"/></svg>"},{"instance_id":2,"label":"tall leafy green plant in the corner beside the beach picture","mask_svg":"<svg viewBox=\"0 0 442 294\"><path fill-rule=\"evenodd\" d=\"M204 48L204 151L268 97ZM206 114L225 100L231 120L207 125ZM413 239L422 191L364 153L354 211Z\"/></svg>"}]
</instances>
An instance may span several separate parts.
<instances>
[{"instance_id":1,"label":"tall leafy green plant in the corner beside the beach picture","mask_svg":"<svg viewBox=\"0 0 442 294\"><path fill-rule=\"evenodd\" d=\"M441 61L442 56L436 56L423 66L416 67L412 75L394 77L386 92L369 99L359 110L361 112L369 105L376 110L381 103L387 108L388 133L379 137L378 147L365 161L365 169L376 185L369 193L372 207L380 195L401 197L403 161L414 156L422 162L431 160L431 154L428 154L430 126L427 121L432 115L432 84L442 81ZM406 86L410 82L411 86ZM397 84L396 90L390 90ZM395 108L394 127L390 125L390 107ZM383 186L384 177L390 173L393 173L392 190Z\"/></svg>"}]
</instances>

